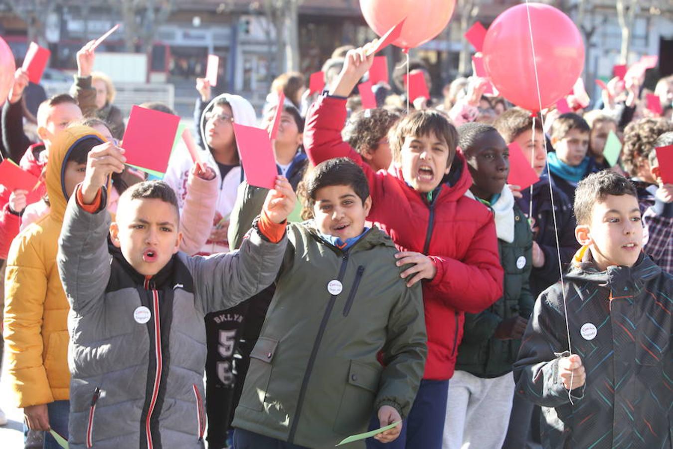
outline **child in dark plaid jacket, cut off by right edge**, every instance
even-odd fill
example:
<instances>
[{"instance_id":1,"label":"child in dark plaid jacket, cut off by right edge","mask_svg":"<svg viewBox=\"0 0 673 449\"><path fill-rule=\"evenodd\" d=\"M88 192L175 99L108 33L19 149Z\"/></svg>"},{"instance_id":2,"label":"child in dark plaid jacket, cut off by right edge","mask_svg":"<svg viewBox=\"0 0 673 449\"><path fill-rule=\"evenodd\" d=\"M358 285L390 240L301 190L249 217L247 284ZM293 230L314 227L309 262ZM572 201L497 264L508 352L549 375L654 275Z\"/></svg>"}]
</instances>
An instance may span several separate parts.
<instances>
[{"instance_id":1,"label":"child in dark plaid jacket, cut off by right edge","mask_svg":"<svg viewBox=\"0 0 673 449\"><path fill-rule=\"evenodd\" d=\"M673 131L660 135L653 146L668 145L673 145ZM664 184L656 151L649 152L648 160L651 176L657 185L647 188L654 197L654 204L643 212L644 248L654 263L666 273L673 274L673 184Z\"/></svg>"}]
</instances>

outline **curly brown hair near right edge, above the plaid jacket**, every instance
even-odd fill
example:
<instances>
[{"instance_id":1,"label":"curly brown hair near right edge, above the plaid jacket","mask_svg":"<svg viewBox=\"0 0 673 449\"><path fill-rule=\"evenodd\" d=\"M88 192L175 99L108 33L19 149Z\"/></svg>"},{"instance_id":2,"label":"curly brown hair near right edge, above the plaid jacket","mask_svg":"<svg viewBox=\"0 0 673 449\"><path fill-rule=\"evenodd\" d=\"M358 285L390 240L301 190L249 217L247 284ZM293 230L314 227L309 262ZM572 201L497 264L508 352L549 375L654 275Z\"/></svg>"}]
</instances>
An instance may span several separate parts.
<instances>
[{"instance_id":1,"label":"curly brown hair near right edge, above the plaid jacket","mask_svg":"<svg viewBox=\"0 0 673 449\"><path fill-rule=\"evenodd\" d=\"M622 162L631 176L636 176L654 149L657 137L673 131L673 123L665 118L641 118L629 123L624 130Z\"/></svg>"}]
</instances>

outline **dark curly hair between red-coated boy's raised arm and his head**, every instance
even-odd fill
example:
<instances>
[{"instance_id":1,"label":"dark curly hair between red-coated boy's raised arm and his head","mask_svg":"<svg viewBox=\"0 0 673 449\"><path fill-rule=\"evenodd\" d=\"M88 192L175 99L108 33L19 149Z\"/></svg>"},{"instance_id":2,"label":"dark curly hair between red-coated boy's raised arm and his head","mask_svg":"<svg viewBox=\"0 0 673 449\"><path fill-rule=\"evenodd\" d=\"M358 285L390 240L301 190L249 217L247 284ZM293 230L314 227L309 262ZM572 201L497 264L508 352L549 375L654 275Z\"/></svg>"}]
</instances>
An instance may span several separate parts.
<instances>
[{"instance_id":1,"label":"dark curly hair between red-coated boy's raised arm and his head","mask_svg":"<svg viewBox=\"0 0 673 449\"><path fill-rule=\"evenodd\" d=\"M400 114L382 108L359 110L350 116L341 135L358 153L376 150L399 119Z\"/></svg>"}]
</instances>

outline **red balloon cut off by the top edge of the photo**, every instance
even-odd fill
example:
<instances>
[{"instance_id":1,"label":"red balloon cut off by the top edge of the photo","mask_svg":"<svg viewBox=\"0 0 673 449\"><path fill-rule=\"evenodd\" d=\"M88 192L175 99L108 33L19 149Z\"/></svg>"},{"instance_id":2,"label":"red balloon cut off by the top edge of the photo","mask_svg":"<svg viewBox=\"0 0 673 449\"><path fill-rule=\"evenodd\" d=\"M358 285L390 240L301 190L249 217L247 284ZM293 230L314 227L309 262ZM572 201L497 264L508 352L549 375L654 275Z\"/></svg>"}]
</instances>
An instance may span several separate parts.
<instances>
[{"instance_id":1,"label":"red balloon cut off by the top edge of the photo","mask_svg":"<svg viewBox=\"0 0 673 449\"><path fill-rule=\"evenodd\" d=\"M456 0L360 0L367 24L379 36L406 18L402 34L392 42L406 49L435 38L449 23L455 6Z\"/></svg>"}]
</instances>

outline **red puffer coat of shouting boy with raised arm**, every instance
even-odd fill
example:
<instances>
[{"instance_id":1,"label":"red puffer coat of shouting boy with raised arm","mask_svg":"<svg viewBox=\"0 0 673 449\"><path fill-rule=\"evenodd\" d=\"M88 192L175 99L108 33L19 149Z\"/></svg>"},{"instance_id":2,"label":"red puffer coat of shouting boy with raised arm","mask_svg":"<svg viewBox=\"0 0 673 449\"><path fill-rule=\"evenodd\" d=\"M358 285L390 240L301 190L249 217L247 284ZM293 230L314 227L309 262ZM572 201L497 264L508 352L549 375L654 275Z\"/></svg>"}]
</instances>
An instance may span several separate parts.
<instances>
[{"instance_id":1,"label":"red puffer coat of shouting boy with raised arm","mask_svg":"<svg viewBox=\"0 0 673 449\"><path fill-rule=\"evenodd\" d=\"M464 196L472 185L460 151L454 159L452 186L444 184L432 205L404 182L401 170L374 172L341 139L345 100L322 97L306 117L304 146L314 164L348 157L369 180L372 206L367 219L387 232L400 250L427 254L437 267L423 281L428 354L423 378L444 380L454 374L462 339L464 312L479 313L502 296L503 269L491 211Z\"/></svg>"}]
</instances>

